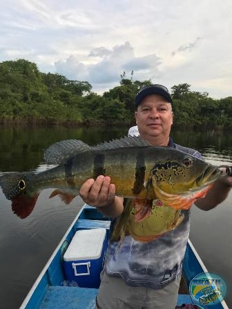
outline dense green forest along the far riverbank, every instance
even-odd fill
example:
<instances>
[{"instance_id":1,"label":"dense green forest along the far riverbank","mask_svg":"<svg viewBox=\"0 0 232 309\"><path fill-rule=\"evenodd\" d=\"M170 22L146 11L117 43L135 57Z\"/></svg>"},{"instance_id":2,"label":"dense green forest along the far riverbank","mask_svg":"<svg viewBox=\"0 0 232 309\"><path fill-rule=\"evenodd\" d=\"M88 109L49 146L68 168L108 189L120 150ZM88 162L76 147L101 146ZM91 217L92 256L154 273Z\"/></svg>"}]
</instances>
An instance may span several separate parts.
<instances>
[{"instance_id":1,"label":"dense green forest along the far riverbank","mask_svg":"<svg viewBox=\"0 0 232 309\"><path fill-rule=\"evenodd\" d=\"M151 80L121 75L119 85L99 95L88 81L39 72L25 59L0 63L0 123L133 124L135 95ZM182 128L232 130L232 97L213 99L182 83L171 88L174 123Z\"/></svg>"}]
</instances>

